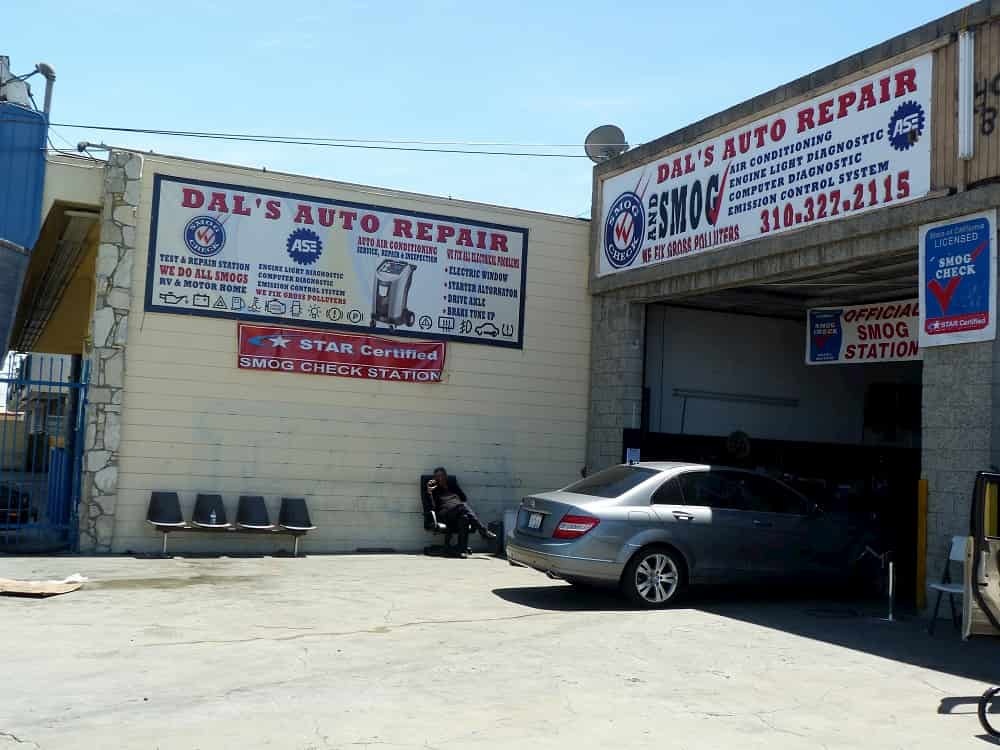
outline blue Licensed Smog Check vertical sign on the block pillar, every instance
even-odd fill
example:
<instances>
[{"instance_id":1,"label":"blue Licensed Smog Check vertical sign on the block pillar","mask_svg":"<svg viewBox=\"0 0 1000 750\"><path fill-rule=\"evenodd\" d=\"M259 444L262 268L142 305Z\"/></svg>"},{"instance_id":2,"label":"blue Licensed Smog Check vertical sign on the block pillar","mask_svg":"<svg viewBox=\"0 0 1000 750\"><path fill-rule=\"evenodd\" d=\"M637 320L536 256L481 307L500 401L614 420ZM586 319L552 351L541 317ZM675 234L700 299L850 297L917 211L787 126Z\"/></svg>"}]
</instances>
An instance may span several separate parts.
<instances>
[{"instance_id":1,"label":"blue Licensed Smog Check vertical sign on the block pillar","mask_svg":"<svg viewBox=\"0 0 1000 750\"><path fill-rule=\"evenodd\" d=\"M996 338L997 216L920 227L920 345Z\"/></svg>"}]
</instances>

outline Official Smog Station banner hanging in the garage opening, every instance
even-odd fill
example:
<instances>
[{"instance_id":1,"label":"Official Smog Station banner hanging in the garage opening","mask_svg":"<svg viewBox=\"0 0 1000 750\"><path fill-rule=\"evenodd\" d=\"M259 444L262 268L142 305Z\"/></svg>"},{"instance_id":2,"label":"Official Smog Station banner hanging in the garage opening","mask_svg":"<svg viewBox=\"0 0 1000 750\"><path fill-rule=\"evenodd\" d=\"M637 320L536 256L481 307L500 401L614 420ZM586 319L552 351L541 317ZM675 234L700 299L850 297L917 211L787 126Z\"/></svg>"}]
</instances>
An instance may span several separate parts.
<instances>
[{"instance_id":1,"label":"Official Smog Station banner hanging in the garage opening","mask_svg":"<svg viewBox=\"0 0 1000 750\"><path fill-rule=\"evenodd\" d=\"M809 311L807 365L849 365L920 359L915 299Z\"/></svg>"}]
</instances>

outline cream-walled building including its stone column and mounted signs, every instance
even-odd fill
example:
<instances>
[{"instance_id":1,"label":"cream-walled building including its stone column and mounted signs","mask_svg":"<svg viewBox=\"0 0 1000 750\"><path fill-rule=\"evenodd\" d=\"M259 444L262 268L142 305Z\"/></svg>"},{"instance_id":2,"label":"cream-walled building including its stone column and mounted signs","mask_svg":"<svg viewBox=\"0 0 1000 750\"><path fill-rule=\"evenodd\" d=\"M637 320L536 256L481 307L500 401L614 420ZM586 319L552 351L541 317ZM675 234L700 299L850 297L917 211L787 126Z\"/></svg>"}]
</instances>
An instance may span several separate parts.
<instances>
[{"instance_id":1,"label":"cream-walled building including its stone column and mounted signs","mask_svg":"<svg viewBox=\"0 0 1000 750\"><path fill-rule=\"evenodd\" d=\"M407 551L435 466L485 521L579 477L587 221L127 151L46 167L11 348L89 363L82 551L158 550L156 490L187 519L304 497L303 551Z\"/></svg>"}]
</instances>

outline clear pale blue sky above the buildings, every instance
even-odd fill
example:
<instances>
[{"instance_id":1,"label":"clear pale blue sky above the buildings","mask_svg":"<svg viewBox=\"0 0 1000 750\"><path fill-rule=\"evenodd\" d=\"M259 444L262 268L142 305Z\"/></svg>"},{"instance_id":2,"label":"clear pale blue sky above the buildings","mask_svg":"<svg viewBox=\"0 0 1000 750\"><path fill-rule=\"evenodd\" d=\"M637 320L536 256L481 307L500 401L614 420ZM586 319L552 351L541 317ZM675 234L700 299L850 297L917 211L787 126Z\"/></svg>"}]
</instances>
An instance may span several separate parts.
<instances>
[{"instance_id":1,"label":"clear pale blue sky above the buildings","mask_svg":"<svg viewBox=\"0 0 1000 750\"><path fill-rule=\"evenodd\" d=\"M964 4L6 0L0 54L55 67L53 122L558 144L614 122L639 144ZM589 215L586 159L60 136Z\"/></svg>"}]
</instances>

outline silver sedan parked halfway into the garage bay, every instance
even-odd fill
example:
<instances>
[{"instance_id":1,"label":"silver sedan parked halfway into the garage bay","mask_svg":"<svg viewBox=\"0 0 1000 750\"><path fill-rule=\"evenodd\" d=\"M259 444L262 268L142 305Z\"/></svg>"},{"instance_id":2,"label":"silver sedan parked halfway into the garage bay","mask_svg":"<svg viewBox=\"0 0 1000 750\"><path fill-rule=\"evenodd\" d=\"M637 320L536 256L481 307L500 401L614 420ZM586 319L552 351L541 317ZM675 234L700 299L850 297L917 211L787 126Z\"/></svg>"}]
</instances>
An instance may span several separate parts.
<instances>
[{"instance_id":1,"label":"silver sedan parked halfway into the garage bay","mask_svg":"<svg viewBox=\"0 0 1000 750\"><path fill-rule=\"evenodd\" d=\"M846 519L764 474L639 463L524 498L507 558L663 607L690 584L841 577L858 545Z\"/></svg>"}]
</instances>

